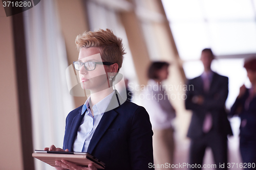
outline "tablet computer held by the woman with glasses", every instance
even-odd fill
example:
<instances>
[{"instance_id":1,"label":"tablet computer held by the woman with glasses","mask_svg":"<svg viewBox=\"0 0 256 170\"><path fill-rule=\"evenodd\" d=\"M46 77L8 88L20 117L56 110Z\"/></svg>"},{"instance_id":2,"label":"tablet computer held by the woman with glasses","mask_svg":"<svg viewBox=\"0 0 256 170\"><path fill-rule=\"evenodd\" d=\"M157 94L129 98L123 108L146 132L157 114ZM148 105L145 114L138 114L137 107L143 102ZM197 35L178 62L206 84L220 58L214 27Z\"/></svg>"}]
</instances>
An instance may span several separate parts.
<instances>
[{"instance_id":1,"label":"tablet computer held by the woman with glasses","mask_svg":"<svg viewBox=\"0 0 256 170\"><path fill-rule=\"evenodd\" d=\"M86 152L60 152L35 150L35 153L33 153L32 156L43 162L48 163L51 166L56 166L56 160L67 160L83 167L88 167L89 163L93 163L94 166L98 169L105 168L105 164L103 162L101 162L100 160Z\"/></svg>"}]
</instances>

